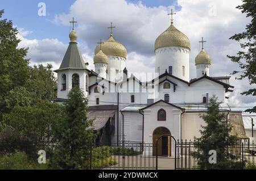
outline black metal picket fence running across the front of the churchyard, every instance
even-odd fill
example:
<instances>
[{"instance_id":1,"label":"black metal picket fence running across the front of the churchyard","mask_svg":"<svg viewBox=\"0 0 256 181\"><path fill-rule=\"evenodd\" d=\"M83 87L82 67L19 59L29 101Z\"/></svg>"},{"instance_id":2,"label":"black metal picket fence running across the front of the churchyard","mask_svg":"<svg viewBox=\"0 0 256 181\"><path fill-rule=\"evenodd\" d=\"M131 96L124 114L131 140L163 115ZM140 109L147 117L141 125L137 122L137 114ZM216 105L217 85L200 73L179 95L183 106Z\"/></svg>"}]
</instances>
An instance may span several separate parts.
<instances>
[{"instance_id":1,"label":"black metal picket fence running across the front of the churchyard","mask_svg":"<svg viewBox=\"0 0 256 181\"><path fill-rule=\"evenodd\" d=\"M47 154L53 152L56 142L42 142L40 149L46 149ZM172 153L168 156L156 155L154 144L125 143L111 146L92 145L88 157L88 169L106 170L154 170L158 169L199 169L197 160L192 156L198 152L193 141L179 141L171 145ZM256 144L244 140L229 146L227 149L231 159L241 163L241 169L255 169ZM175 155L176 151L176 157ZM158 164L158 165L157 165Z\"/></svg>"}]
</instances>

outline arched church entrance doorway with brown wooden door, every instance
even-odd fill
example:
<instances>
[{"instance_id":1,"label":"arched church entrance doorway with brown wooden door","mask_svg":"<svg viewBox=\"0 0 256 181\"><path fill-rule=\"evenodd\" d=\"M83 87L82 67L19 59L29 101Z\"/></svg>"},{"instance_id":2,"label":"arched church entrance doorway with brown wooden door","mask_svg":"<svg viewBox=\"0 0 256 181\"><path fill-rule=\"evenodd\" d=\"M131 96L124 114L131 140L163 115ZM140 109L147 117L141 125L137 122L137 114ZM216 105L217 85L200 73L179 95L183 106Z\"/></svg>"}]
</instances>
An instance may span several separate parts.
<instances>
[{"instance_id":1,"label":"arched church entrance doorway with brown wooden door","mask_svg":"<svg viewBox=\"0 0 256 181\"><path fill-rule=\"evenodd\" d=\"M158 155L163 157L170 157L171 156L171 137L170 136L163 136L163 134L171 134L169 129L166 127L158 127L153 132L153 155L156 155L156 141L158 138L160 140L158 141Z\"/></svg>"}]
</instances>

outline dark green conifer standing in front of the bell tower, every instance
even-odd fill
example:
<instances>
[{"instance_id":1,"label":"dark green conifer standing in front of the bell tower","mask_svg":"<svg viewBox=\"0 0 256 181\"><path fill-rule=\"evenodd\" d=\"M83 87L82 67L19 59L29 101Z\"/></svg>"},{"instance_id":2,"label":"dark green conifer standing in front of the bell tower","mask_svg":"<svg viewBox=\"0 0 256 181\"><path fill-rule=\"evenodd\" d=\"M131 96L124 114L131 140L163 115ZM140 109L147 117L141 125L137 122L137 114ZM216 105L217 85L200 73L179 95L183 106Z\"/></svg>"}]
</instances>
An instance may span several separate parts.
<instances>
[{"instance_id":1,"label":"dark green conifer standing in front of the bell tower","mask_svg":"<svg viewBox=\"0 0 256 181\"><path fill-rule=\"evenodd\" d=\"M87 104L80 89L69 91L63 117L53 127L59 141L53 154L53 168L88 169L90 145L96 134L92 130L92 120L86 115Z\"/></svg>"}]
</instances>

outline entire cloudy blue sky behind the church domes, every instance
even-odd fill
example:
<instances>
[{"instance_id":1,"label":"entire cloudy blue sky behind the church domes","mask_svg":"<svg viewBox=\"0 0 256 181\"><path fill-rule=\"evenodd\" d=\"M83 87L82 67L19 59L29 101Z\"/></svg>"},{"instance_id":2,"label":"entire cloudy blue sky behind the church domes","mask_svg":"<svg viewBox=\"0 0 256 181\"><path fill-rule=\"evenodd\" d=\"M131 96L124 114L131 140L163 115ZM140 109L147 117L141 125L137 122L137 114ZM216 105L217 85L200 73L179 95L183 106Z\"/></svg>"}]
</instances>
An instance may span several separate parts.
<instances>
[{"instance_id":1,"label":"entire cloudy blue sky behind the church domes","mask_svg":"<svg viewBox=\"0 0 256 181\"><path fill-rule=\"evenodd\" d=\"M46 3L46 16L38 15L40 2ZM143 6L139 6L139 2ZM1 0L0 10L5 9L3 18L30 31L22 35L20 46L29 48L27 58L31 58L31 64L51 63L54 69L59 68L67 50L68 34L72 29L67 22L73 16L79 21L76 27L78 42L90 69L94 68L94 48L101 37L103 41L108 39L106 27L113 21L117 26L115 39L127 48L127 69L136 73L154 71L155 39L170 26L167 7L175 6L174 24L191 41L190 74L195 78L195 57L200 52L202 36L207 40L205 49L213 59L212 76L229 75L237 69L237 64L226 55L234 55L240 49L229 37L242 32L250 21L236 9L240 4L241 0ZM232 85L236 85L236 90L230 93L231 105L255 102L251 96L240 95L249 87L246 80L237 81L233 76Z\"/></svg>"}]
</instances>

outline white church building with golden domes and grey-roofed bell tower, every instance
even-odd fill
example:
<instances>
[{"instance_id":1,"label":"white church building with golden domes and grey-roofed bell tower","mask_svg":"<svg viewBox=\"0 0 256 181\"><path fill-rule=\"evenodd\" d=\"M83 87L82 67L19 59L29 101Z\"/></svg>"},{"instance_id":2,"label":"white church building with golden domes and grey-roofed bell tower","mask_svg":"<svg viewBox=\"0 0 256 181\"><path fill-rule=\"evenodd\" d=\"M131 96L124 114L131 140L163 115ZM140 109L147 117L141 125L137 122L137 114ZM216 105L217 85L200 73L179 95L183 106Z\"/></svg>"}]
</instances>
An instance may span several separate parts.
<instances>
[{"instance_id":1,"label":"white church building with golden domes and grey-roofed bell tower","mask_svg":"<svg viewBox=\"0 0 256 181\"><path fill-rule=\"evenodd\" d=\"M242 121L232 119L240 117L241 112L232 112L226 104L227 93L234 89L230 77L210 76L210 66L214 65L204 48L195 57L195 78L189 77L191 43L173 22L155 40L157 76L150 80L127 71L127 50L114 39L113 27L110 28L109 39L95 48L94 70L88 69L88 63L81 56L74 28L60 68L55 70L55 101L65 102L72 87L79 86L88 98L88 117L94 119L94 130L100 133L96 142L102 145L122 141L155 144L162 134L171 134L175 140L193 140L200 137L201 125L205 125L200 114L207 111L213 95L221 102L220 111L228 114L236 128L232 134L247 138ZM162 146L160 155L174 153L173 142L170 145L169 139L161 138L160 144L168 149Z\"/></svg>"}]
</instances>

